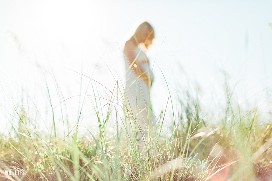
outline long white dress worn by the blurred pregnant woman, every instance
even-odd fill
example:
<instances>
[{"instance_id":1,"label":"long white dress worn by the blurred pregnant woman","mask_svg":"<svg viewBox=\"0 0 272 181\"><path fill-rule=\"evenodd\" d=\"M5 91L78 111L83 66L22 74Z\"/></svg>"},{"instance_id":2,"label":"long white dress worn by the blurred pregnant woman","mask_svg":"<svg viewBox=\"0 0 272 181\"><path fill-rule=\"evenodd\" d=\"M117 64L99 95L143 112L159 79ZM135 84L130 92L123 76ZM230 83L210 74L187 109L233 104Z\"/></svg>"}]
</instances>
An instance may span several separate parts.
<instances>
[{"instance_id":1,"label":"long white dress worn by the blurred pregnant woman","mask_svg":"<svg viewBox=\"0 0 272 181\"><path fill-rule=\"evenodd\" d=\"M149 66L149 60L139 47L134 49L134 54L136 56L136 61L133 65L130 65L129 61L125 58L125 68L126 68L126 117L130 121L131 125L140 126L142 133L147 133L147 128L152 129L155 124L155 116L152 111L152 105L150 100L150 88L143 80L142 77L135 75L132 68L135 69L135 63L141 66L141 69L146 72L149 80L151 80L152 72ZM128 57L125 55L125 57Z\"/></svg>"}]
</instances>

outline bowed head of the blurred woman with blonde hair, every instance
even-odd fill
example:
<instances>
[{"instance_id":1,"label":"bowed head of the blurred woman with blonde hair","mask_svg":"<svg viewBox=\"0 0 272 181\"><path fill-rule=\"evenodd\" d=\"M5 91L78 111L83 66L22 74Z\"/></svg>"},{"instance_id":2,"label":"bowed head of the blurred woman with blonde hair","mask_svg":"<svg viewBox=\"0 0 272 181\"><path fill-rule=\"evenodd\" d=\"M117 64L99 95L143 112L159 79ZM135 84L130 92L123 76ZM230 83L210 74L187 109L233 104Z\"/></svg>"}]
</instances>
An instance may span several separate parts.
<instances>
[{"instance_id":1,"label":"bowed head of the blurred woman with blonde hair","mask_svg":"<svg viewBox=\"0 0 272 181\"><path fill-rule=\"evenodd\" d=\"M152 44L152 40L155 38L154 29L148 22L143 22L138 26L133 37L138 44L144 43L145 47L148 48L148 46Z\"/></svg>"}]
</instances>

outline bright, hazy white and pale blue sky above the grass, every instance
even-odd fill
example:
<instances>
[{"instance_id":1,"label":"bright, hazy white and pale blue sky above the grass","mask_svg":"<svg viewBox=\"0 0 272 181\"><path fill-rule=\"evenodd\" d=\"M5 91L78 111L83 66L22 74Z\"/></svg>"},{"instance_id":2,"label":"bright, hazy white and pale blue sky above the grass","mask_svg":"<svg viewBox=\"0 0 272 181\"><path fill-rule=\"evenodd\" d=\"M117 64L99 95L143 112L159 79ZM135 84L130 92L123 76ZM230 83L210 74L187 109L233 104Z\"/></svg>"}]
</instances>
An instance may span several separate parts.
<instances>
[{"instance_id":1,"label":"bright, hazy white and pale blue sky above the grass","mask_svg":"<svg viewBox=\"0 0 272 181\"><path fill-rule=\"evenodd\" d=\"M119 47L123 51L125 41L145 20L155 29L154 45L147 54L157 64L152 86L157 114L168 98L160 69L176 110L176 93L186 90L188 81L201 88L207 109L210 102L225 100L223 71L232 87L238 82L237 102L258 106L271 95L271 89L263 90L272 86L272 1L2 0L0 106L5 113L0 116L12 110L11 100L22 99L18 86L45 109L48 98L40 90L46 93L45 82L56 90L51 70L64 98L83 94L80 75L68 69L89 76L98 64L93 77L113 88L116 77L122 79L125 73Z\"/></svg>"}]
</instances>

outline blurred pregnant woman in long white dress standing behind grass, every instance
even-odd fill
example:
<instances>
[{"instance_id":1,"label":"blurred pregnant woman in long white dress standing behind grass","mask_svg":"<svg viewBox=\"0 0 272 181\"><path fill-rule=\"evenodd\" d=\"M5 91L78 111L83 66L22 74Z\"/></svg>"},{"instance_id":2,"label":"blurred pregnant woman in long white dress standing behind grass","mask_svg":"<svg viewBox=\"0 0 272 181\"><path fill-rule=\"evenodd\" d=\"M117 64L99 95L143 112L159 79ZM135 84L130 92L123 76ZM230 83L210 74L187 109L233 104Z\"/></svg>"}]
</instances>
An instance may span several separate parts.
<instances>
[{"instance_id":1,"label":"blurred pregnant woman in long white dress standing behind grass","mask_svg":"<svg viewBox=\"0 0 272 181\"><path fill-rule=\"evenodd\" d=\"M136 127L140 131L138 137L147 134L147 130L153 128L155 124L150 99L153 76L149 60L143 50L148 49L154 37L154 29L148 22L144 22L125 43L124 49L127 120L133 128Z\"/></svg>"}]
</instances>

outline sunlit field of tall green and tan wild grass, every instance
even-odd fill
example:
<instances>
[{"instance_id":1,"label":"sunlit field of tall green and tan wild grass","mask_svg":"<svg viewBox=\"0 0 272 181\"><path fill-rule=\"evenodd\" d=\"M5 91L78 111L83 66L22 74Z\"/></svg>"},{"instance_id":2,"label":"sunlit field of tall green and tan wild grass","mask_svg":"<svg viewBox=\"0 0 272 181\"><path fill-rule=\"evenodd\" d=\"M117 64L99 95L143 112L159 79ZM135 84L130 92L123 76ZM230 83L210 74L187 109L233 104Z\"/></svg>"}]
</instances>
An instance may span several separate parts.
<instances>
[{"instance_id":1,"label":"sunlit field of tall green and tan wild grass","mask_svg":"<svg viewBox=\"0 0 272 181\"><path fill-rule=\"evenodd\" d=\"M77 122L64 137L55 126L51 102L52 119L46 120L52 123L51 134L33 129L32 114L14 105L19 124L0 135L0 180L272 180L272 120L263 121L257 108L242 110L227 85L225 93L227 104L216 123L188 95L186 103L180 103L181 116L170 120L170 132L163 129L162 110L155 128L140 139L137 132L142 130L124 96L114 93L102 115L103 98L94 92L96 133ZM123 115L117 116L115 105L122 106ZM116 121L113 132L107 129L109 121ZM129 131L130 125L136 125L134 130Z\"/></svg>"}]
</instances>

